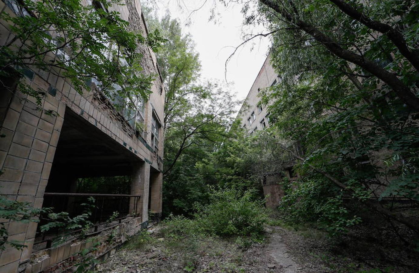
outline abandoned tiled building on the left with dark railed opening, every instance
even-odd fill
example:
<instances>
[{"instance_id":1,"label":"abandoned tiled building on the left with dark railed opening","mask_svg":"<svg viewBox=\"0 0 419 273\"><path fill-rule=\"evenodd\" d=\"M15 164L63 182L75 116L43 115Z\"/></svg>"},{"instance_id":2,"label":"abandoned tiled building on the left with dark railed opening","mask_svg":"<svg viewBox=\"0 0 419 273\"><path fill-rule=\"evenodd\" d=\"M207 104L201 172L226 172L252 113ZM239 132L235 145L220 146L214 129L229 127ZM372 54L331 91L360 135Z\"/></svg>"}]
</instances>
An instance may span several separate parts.
<instances>
[{"instance_id":1,"label":"abandoned tiled building on the left with dark railed opening","mask_svg":"<svg viewBox=\"0 0 419 273\"><path fill-rule=\"evenodd\" d=\"M147 27L139 0L122 2L126 5L111 8L145 35ZM2 11L12 14L16 8L18 1L0 1ZM1 23L3 46L9 28ZM18 250L7 245L0 252L0 272L61 272L74 263L80 249L105 242L114 232L116 240L102 244L95 254L109 255L128 236L147 226L150 212L153 217L161 215L165 92L154 52L139 47L145 74L157 77L148 100L138 105L129 120L100 92L81 95L69 81L48 72L27 69L21 78L47 93L42 109L19 90L11 95L2 90L1 194L34 208L67 211L70 216L80 214L80 203L93 196L96 209L91 216L94 226L87 235L72 234L71 240L56 246L51 242L57 235L41 233L41 223L2 219L8 240L24 242L26 247ZM46 111L56 111L57 115ZM142 124L142 130L136 124ZM123 182L103 189L89 188L89 178L106 177L119 177ZM118 216L109 221L114 212Z\"/></svg>"}]
</instances>

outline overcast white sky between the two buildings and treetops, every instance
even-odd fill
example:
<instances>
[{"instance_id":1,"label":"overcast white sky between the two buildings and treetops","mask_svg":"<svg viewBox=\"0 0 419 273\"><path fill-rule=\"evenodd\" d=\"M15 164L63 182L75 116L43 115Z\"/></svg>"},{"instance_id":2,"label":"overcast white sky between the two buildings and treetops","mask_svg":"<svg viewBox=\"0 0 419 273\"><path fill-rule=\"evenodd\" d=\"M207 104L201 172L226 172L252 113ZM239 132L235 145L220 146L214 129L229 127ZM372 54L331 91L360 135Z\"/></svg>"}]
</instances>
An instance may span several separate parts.
<instances>
[{"instance_id":1,"label":"overcast white sky between the two buildings and treetops","mask_svg":"<svg viewBox=\"0 0 419 273\"><path fill-rule=\"evenodd\" d=\"M238 46L243 41L241 6L233 5L225 8L217 5L220 16L217 17L217 23L214 23L208 21L213 2L207 1L208 3L191 15L191 23L186 26L186 19L191 11L199 8L204 0L181 2L184 3L182 10L179 9L177 0L156 0L159 14L163 15L169 10L172 18L179 18L181 21L184 33L190 33L196 42L196 50L199 52L202 64L202 77L225 82L225 61L234 51L232 46ZM251 31L253 34L266 32L263 28L245 31L246 33ZM269 38L256 38L253 41L238 49L227 67L227 80L231 83L231 90L237 93L238 99L246 98L269 48Z\"/></svg>"}]
</instances>

